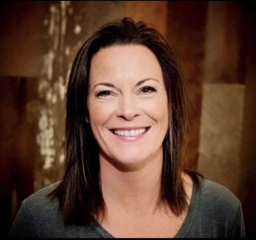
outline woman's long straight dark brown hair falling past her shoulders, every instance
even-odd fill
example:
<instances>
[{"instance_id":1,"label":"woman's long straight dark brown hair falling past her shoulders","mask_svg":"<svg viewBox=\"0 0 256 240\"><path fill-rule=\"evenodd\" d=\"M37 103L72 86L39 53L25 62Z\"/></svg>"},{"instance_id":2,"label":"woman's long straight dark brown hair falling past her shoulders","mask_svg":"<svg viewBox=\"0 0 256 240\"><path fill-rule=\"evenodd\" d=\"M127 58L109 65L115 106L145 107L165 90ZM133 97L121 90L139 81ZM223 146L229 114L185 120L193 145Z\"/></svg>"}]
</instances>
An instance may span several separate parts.
<instances>
[{"instance_id":1,"label":"woman's long straight dark brown hair falling past her shoulders","mask_svg":"<svg viewBox=\"0 0 256 240\"><path fill-rule=\"evenodd\" d=\"M158 58L168 98L169 127L163 141L162 186L160 202L179 215L188 207L182 171L187 170L183 154L186 138L186 85L181 66L173 50L153 27L131 18L108 22L82 45L74 58L66 94L65 173L51 193L60 202L66 224L90 224L94 216L104 214L99 174L99 146L92 133L87 96L91 59L102 48L116 45L142 45ZM113 63L114 64L114 63ZM195 182L198 184L198 182Z\"/></svg>"}]
</instances>

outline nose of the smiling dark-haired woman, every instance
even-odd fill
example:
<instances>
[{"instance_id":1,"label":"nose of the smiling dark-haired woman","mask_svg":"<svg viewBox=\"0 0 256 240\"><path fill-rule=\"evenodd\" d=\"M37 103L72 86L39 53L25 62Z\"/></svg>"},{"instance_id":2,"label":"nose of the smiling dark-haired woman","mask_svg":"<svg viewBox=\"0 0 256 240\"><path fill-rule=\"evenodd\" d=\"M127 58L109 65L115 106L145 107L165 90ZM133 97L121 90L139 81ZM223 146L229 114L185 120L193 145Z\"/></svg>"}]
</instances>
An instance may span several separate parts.
<instances>
[{"instance_id":1,"label":"nose of the smiling dark-haired woman","mask_svg":"<svg viewBox=\"0 0 256 240\"><path fill-rule=\"evenodd\" d=\"M134 97L120 98L116 113L119 118L124 118L127 121L133 120L139 114L138 100Z\"/></svg>"}]
</instances>

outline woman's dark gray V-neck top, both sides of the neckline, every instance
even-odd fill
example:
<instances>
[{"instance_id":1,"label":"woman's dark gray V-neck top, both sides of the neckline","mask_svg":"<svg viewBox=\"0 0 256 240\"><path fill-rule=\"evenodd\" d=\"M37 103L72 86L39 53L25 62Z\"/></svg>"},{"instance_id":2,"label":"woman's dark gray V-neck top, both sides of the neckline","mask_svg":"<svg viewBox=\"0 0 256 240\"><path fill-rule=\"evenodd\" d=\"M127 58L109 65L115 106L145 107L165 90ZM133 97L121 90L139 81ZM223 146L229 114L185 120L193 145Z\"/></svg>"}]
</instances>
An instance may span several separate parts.
<instances>
[{"instance_id":1,"label":"woman's dark gray V-neck top, both sides of the neckline","mask_svg":"<svg viewBox=\"0 0 256 240\"><path fill-rule=\"evenodd\" d=\"M225 186L201 178L202 186L193 188L190 210L175 238L245 238L242 206ZM114 238L99 223L91 226L63 224L58 200L46 194L55 182L38 190L22 202L14 219L10 238Z\"/></svg>"}]
</instances>

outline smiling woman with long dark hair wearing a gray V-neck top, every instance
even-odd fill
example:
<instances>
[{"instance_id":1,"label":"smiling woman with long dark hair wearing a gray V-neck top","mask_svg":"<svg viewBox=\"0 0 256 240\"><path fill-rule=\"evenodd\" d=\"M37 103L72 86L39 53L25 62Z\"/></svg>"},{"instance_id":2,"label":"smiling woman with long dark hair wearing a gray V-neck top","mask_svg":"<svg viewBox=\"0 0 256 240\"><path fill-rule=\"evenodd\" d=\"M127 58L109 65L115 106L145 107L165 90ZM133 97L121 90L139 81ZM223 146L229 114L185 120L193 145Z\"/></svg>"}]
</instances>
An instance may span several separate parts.
<instances>
[{"instance_id":1,"label":"smiling woman with long dark hair wearing a gray V-neck top","mask_svg":"<svg viewBox=\"0 0 256 240\"><path fill-rule=\"evenodd\" d=\"M64 177L23 201L10 237L245 237L238 198L186 166L186 118L166 39L106 23L70 72Z\"/></svg>"}]
</instances>

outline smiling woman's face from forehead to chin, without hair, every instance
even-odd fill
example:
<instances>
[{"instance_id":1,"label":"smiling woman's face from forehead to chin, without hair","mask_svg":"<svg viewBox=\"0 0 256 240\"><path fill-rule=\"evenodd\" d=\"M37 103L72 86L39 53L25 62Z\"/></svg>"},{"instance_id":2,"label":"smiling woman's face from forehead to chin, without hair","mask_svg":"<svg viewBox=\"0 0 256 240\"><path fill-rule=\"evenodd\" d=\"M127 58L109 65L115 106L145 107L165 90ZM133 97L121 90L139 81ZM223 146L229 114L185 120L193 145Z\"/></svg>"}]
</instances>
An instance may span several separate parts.
<instances>
[{"instance_id":1,"label":"smiling woman's face from forehead to chin, without hair","mask_svg":"<svg viewBox=\"0 0 256 240\"><path fill-rule=\"evenodd\" d=\"M87 106L100 159L123 166L162 160L167 94L161 66L146 46L110 46L94 55Z\"/></svg>"}]
</instances>

